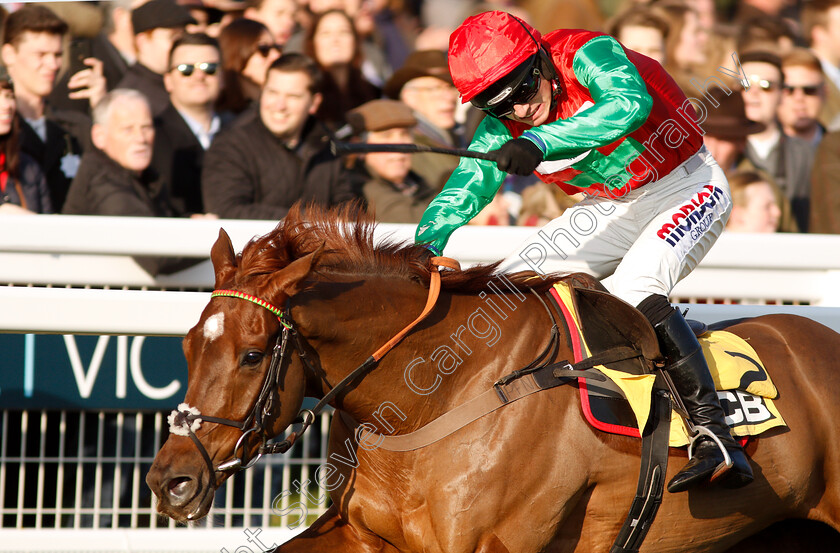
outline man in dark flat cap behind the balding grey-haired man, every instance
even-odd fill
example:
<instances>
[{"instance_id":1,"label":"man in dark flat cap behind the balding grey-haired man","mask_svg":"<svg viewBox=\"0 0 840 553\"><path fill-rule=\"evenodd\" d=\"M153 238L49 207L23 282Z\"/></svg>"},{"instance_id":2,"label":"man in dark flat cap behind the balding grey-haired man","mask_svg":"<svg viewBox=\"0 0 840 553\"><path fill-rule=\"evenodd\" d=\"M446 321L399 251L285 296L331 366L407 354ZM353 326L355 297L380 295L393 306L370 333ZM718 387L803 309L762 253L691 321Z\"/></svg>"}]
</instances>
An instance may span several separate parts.
<instances>
[{"instance_id":1,"label":"man in dark flat cap behind the balding grey-haired man","mask_svg":"<svg viewBox=\"0 0 840 553\"><path fill-rule=\"evenodd\" d=\"M163 74L169 69L169 51L187 25L195 19L175 0L149 0L131 12L137 62L128 68L119 88L139 90L149 100L152 116L157 117L169 105L169 93Z\"/></svg>"}]
</instances>

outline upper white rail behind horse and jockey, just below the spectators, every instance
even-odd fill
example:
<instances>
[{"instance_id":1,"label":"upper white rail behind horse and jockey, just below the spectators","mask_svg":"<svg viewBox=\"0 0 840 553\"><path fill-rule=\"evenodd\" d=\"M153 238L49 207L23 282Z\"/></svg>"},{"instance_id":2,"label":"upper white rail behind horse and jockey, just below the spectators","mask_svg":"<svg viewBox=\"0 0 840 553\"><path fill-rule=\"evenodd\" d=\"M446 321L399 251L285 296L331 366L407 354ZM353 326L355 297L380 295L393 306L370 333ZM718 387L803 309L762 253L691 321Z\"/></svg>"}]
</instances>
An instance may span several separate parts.
<instances>
[{"instance_id":1,"label":"upper white rail behind horse and jockey, just below the spectators","mask_svg":"<svg viewBox=\"0 0 840 553\"><path fill-rule=\"evenodd\" d=\"M274 227L267 221L192 221L66 215L0 218L0 283L141 289L207 289L209 261L152 278L128 255L208 258L224 228L239 250ZM529 227L457 230L446 255L463 265L504 257ZM379 225L377 237L411 240L412 225ZM724 233L700 266L674 289L680 299L840 306L840 236ZM7 327L4 327L7 328Z\"/></svg>"}]
</instances>

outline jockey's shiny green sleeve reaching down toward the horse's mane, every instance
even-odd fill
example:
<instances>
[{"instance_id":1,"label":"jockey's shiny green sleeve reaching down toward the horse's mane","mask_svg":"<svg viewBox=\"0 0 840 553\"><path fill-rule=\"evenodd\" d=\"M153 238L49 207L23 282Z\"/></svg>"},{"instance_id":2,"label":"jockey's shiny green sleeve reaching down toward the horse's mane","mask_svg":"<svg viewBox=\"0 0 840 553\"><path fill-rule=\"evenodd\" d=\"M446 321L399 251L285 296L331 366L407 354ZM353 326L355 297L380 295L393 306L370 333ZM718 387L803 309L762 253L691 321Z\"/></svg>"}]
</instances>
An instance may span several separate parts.
<instances>
[{"instance_id":1,"label":"jockey's shiny green sleeve reaching down toward the horse's mane","mask_svg":"<svg viewBox=\"0 0 840 553\"><path fill-rule=\"evenodd\" d=\"M497 150L511 138L510 131L498 119L485 117L469 149L477 152ZM455 229L465 225L493 201L506 176L492 161L461 158L446 186L423 213L415 241L443 252Z\"/></svg>"}]
</instances>

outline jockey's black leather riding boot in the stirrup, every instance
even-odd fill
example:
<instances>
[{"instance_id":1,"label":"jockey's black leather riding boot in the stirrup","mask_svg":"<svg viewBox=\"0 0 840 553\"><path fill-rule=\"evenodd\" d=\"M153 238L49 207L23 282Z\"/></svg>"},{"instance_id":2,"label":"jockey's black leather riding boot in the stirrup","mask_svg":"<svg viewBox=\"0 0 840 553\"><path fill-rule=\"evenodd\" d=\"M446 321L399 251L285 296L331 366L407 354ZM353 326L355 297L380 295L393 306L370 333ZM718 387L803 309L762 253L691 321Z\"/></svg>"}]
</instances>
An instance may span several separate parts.
<instances>
[{"instance_id":1,"label":"jockey's black leather riding boot in the stirrup","mask_svg":"<svg viewBox=\"0 0 840 553\"><path fill-rule=\"evenodd\" d=\"M663 296L659 297L667 301ZM645 313L643 304L639 308ZM691 459L668 483L668 491L685 491L701 482L719 478L720 483L728 488L746 486L753 480L752 469L744 450L729 434L729 426L724 420L725 414L700 343L679 310L671 307L670 313L662 318L663 310L661 306L657 307L659 316L656 318L660 320L653 328L659 338L662 354L668 362L665 370L682 398L691 421L695 426L704 426L712 432L732 460L731 467L727 468L723 453L714 440L710 437L700 438L695 442Z\"/></svg>"}]
</instances>

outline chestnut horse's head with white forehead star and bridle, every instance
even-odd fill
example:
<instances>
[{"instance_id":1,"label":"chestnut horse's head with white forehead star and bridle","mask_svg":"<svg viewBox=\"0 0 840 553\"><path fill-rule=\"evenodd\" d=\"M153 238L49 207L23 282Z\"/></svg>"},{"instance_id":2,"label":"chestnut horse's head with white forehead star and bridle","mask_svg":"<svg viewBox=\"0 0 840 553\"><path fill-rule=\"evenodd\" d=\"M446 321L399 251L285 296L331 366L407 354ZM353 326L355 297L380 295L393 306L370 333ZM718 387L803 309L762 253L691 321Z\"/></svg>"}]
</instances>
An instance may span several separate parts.
<instances>
[{"instance_id":1,"label":"chestnut horse's head with white forehead star and bridle","mask_svg":"<svg viewBox=\"0 0 840 553\"><path fill-rule=\"evenodd\" d=\"M241 275L220 232L211 252L216 292L184 339L186 398L146 476L161 513L179 521L206 515L221 483L298 414L306 378L283 309L320 252Z\"/></svg>"}]
</instances>

